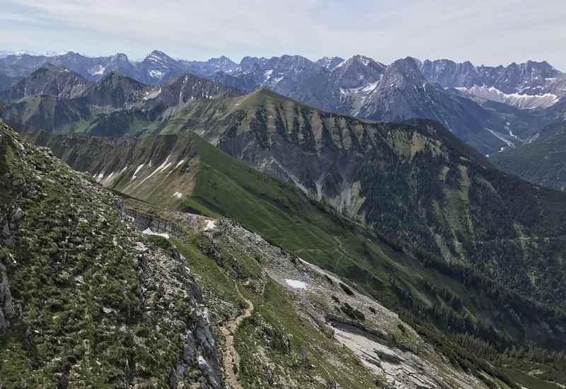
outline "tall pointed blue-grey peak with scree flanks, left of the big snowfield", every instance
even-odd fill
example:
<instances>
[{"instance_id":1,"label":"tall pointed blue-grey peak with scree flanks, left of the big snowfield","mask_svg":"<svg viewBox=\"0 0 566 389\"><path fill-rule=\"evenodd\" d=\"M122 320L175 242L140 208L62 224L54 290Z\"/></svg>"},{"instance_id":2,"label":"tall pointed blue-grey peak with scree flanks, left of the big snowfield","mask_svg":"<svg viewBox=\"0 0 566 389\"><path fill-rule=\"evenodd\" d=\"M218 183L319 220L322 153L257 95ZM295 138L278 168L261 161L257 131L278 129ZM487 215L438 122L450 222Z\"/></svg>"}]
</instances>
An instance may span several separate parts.
<instances>
[{"instance_id":1,"label":"tall pointed blue-grey peak with scree flanks, left of the big snowfield","mask_svg":"<svg viewBox=\"0 0 566 389\"><path fill-rule=\"evenodd\" d=\"M509 129L529 137L537 128L527 125L533 122L529 121L532 115L507 107L486 108L483 102L429 83L410 57L387 66L379 81L342 89L341 94L340 112L387 122L413 117L437 120L483 153L518 143L517 139L507 141Z\"/></svg>"}]
</instances>

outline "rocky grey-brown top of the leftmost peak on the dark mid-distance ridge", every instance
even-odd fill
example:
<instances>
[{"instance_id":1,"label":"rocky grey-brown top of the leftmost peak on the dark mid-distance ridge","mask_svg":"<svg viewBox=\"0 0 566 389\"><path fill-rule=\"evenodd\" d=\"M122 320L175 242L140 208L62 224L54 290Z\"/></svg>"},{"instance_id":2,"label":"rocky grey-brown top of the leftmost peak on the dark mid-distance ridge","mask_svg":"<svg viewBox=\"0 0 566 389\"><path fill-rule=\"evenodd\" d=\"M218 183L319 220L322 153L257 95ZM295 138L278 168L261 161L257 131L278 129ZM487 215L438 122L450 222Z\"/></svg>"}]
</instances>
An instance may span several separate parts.
<instances>
[{"instance_id":1,"label":"rocky grey-brown top of the leftmost peak on the dark mid-distance ridge","mask_svg":"<svg viewBox=\"0 0 566 389\"><path fill-rule=\"evenodd\" d=\"M91 86L92 82L69 69L47 65L16 83L1 100L18 100L30 95L51 95L59 98L75 98Z\"/></svg>"}]
</instances>

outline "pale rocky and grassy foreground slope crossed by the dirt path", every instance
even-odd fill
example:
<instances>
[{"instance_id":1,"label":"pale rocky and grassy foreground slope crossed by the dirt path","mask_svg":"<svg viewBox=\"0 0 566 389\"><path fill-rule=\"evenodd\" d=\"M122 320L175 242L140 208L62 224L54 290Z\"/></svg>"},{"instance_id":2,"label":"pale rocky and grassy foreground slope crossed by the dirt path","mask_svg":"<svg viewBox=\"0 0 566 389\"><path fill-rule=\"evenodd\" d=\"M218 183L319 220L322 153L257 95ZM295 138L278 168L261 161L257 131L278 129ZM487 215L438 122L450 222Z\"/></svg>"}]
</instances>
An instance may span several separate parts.
<instances>
[{"instance_id":1,"label":"pale rocky and grassy foreground slope crossed by the dirt path","mask_svg":"<svg viewBox=\"0 0 566 389\"><path fill-rule=\"evenodd\" d=\"M140 229L151 220L153 233L184 231L168 244L187 257L190 241L197 240L214 258L192 262L192 269L211 285L204 299L214 307L211 317L226 336L224 364L233 371L227 374L231 388L507 385L487 365L465 373L447 363L438 349L374 298L229 219L203 223L202 216L132 199L124 209ZM246 308L238 310L238 305Z\"/></svg>"}]
</instances>

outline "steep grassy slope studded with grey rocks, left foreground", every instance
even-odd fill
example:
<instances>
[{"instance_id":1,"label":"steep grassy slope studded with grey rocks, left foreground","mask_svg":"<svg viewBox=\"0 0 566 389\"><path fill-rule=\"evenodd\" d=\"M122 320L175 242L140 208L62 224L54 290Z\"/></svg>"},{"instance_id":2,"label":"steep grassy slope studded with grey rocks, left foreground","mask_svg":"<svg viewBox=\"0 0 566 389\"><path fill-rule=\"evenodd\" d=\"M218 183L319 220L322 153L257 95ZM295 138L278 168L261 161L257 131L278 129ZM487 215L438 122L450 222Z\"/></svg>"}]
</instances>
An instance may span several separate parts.
<instances>
[{"instance_id":1,"label":"steep grassy slope studded with grey rocks, left foreground","mask_svg":"<svg viewBox=\"0 0 566 389\"><path fill-rule=\"evenodd\" d=\"M4 123L0 173L3 386L224 388L185 257L135 232L110 192Z\"/></svg>"}]
</instances>

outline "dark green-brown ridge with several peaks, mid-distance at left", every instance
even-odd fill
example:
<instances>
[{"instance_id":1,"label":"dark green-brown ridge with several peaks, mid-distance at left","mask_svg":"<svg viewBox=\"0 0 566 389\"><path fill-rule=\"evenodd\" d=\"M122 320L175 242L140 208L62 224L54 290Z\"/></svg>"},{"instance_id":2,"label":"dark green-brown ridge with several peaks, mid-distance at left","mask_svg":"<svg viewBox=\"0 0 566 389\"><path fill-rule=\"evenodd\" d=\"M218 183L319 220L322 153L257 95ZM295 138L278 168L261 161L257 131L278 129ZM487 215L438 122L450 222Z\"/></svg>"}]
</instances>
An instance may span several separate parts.
<instances>
[{"instance_id":1,"label":"dark green-brown ridge with several peaks, mid-distance at left","mask_svg":"<svg viewBox=\"0 0 566 389\"><path fill-rule=\"evenodd\" d=\"M48 65L0 92L2 116L19 126L59 133L121 136L157 128L192 100L242 92L192 74L149 86L120 71L98 82Z\"/></svg>"}]
</instances>

